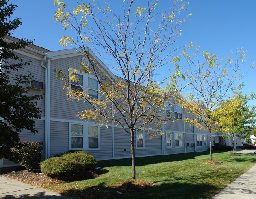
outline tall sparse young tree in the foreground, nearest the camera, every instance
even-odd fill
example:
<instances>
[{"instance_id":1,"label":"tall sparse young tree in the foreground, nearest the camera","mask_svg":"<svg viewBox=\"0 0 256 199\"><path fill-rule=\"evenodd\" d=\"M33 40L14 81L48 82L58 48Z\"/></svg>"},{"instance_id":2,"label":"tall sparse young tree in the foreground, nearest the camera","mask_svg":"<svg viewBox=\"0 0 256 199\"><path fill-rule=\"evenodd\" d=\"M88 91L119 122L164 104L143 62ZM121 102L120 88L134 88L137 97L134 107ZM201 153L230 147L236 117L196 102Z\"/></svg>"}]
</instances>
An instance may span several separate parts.
<instances>
[{"instance_id":1,"label":"tall sparse young tree in the foreground, nearest the camera","mask_svg":"<svg viewBox=\"0 0 256 199\"><path fill-rule=\"evenodd\" d=\"M64 36L60 44L79 47L89 58L91 69L83 67L80 72L91 72L96 76L104 99L69 87L68 95L84 97L93 107L93 110L78 113L80 119L96 120L106 125L114 121L130 134L134 179L134 133L141 130L155 135L154 126L161 126L163 120L162 105L169 99L174 86L170 83L167 89L161 88L166 79L157 81L155 75L160 67L171 62L172 53L177 49L173 44L181 35L179 27L187 18L181 17L185 3L177 2L174 0L169 10L160 11L158 0L148 0L143 5L135 0L119 1L112 6L89 1L70 12L65 3L54 1L59 5L55 13L56 22L61 22L65 30L70 27L77 34L74 39ZM109 60L102 58L121 78L108 80L102 77L95 59L89 56L87 46L93 47L99 55L108 55ZM58 72L58 77L63 77L66 85L72 82L79 84L78 76L74 75L78 71L70 69L72 82L63 71Z\"/></svg>"}]
</instances>

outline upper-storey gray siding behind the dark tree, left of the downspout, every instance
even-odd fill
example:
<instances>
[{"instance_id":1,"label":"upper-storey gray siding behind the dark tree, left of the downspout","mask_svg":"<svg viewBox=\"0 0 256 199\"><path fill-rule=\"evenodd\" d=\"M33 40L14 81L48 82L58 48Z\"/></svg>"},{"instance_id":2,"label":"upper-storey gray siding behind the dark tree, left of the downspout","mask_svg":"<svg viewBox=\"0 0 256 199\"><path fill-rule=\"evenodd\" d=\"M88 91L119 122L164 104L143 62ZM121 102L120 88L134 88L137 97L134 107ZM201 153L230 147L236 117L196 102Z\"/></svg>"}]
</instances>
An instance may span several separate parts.
<instances>
[{"instance_id":1,"label":"upper-storey gray siding behind the dark tree, left of the downspout","mask_svg":"<svg viewBox=\"0 0 256 199\"><path fill-rule=\"evenodd\" d=\"M41 61L37 60L35 58L31 58L25 55L21 55L19 53L15 53L17 56L23 59L23 62L30 62L30 65L25 65L23 66L24 69L19 69L18 71L11 71L11 75L28 75L29 72L33 73L33 78L32 80L36 80L39 82L43 82L43 90L35 90L35 89L29 89L29 92L27 95L41 95L44 94L45 91L45 69L41 67ZM43 57L42 57L43 59ZM9 64L16 64L18 63L17 60L8 60ZM13 81L11 81L13 82ZM27 87L28 85L23 84L22 86ZM35 100L37 102L37 107L40 108L42 111L41 117L45 117L45 97L44 95L42 96L43 99L40 100Z\"/></svg>"}]
</instances>

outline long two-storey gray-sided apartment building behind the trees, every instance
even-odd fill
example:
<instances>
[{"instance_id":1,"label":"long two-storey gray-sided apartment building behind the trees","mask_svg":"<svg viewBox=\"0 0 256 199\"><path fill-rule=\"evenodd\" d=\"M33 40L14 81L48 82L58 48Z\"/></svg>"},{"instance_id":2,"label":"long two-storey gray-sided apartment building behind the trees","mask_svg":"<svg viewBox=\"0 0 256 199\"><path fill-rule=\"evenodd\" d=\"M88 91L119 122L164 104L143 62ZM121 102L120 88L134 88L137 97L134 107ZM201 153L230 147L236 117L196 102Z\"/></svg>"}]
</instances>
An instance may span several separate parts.
<instances>
[{"instance_id":1,"label":"long two-storey gray-sided apartment building behind the trees","mask_svg":"<svg viewBox=\"0 0 256 199\"><path fill-rule=\"evenodd\" d=\"M16 42L18 39L6 36L7 42ZM30 65L24 69L12 71L13 74L33 73L35 84L29 86L30 95L44 94L43 99L38 100L41 108L41 119L35 121L36 135L23 130L20 133L21 141L35 141L43 145L42 159L61 154L71 149L85 150L97 160L109 160L131 157L130 135L122 128L112 123L108 127L100 126L95 121L82 121L76 117L78 110L91 108L87 102L80 100L67 100L66 90L63 89L63 82L56 79L54 69L62 69L68 75L68 68L80 71L80 63L87 58L84 57L81 49L64 49L50 51L33 44L24 49L14 51L24 61L31 60ZM98 63L99 58L88 48L90 57ZM16 60L11 60L17 62ZM91 66L89 66L91 67ZM104 64L98 64L102 75L115 79L116 76ZM94 93L100 96L100 87L93 74L81 75L82 89L89 92L88 82L94 82ZM172 99L170 99L171 101ZM174 104L173 102L170 104ZM175 111L176 112L175 112ZM175 114L176 113L176 114ZM172 120L178 115L178 119ZM169 155L176 153L188 153L206 151L210 148L210 136L208 130L200 130L195 126L183 121L184 117L193 117L184 108L176 105L168 105L163 111L163 117L170 118L170 121L163 124L163 135L150 138L142 132L135 136L135 156L145 157L153 155ZM91 136L93 131L93 137ZM254 137L255 138L255 137ZM255 138L256 139L256 138ZM232 143L229 139L223 139L221 135L213 133L212 143ZM6 159L0 160L0 172L15 165Z\"/></svg>"}]
</instances>

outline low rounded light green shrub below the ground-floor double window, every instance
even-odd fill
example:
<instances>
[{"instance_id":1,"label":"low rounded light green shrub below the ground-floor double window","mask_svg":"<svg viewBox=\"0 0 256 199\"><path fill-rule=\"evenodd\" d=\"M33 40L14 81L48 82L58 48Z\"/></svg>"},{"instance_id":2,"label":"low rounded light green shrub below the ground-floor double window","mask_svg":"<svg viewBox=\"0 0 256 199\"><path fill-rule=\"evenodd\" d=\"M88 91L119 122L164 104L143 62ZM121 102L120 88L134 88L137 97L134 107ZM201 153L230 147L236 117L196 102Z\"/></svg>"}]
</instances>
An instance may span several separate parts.
<instances>
[{"instance_id":1,"label":"low rounded light green shrub below the ground-floor double window","mask_svg":"<svg viewBox=\"0 0 256 199\"><path fill-rule=\"evenodd\" d=\"M41 172L49 176L73 175L87 172L97 164L96 159L85 151L71 150L59 157L51 157L41 162Z\"/></svg>"}]
</instances>

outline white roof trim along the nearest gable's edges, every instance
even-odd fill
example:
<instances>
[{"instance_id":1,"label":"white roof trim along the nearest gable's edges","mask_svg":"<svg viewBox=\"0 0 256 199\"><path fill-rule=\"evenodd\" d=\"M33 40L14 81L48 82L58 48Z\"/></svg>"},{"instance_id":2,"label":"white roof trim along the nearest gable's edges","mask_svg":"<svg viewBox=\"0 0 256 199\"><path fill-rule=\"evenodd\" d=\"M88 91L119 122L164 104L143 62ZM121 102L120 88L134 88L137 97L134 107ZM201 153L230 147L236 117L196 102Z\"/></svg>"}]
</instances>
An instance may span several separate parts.
<instances>
[{"instance_id":1,"label":"white roof trim along the nearest gable's edges","mask_svg":"<svg viewBox=\"0 0 256 199\"><path fill-rule=\"evenodd\" d=\"M113 79L116 79L116 76L109 70L109 68L102 63L102 61L89 49L89 47L86 47L86 50L89 52L89 55L91 55L98 63L96 64L98 68L100 68L103 72L110 75ZM65 49L65 50L59 50L59 51L51 51L46 53L46 58L51 60L61 59L61 58L67 58L67 57L74 57L84 55L83 50L80 48L73 48L73 49Z\"/></svg>"}]
</instances>

